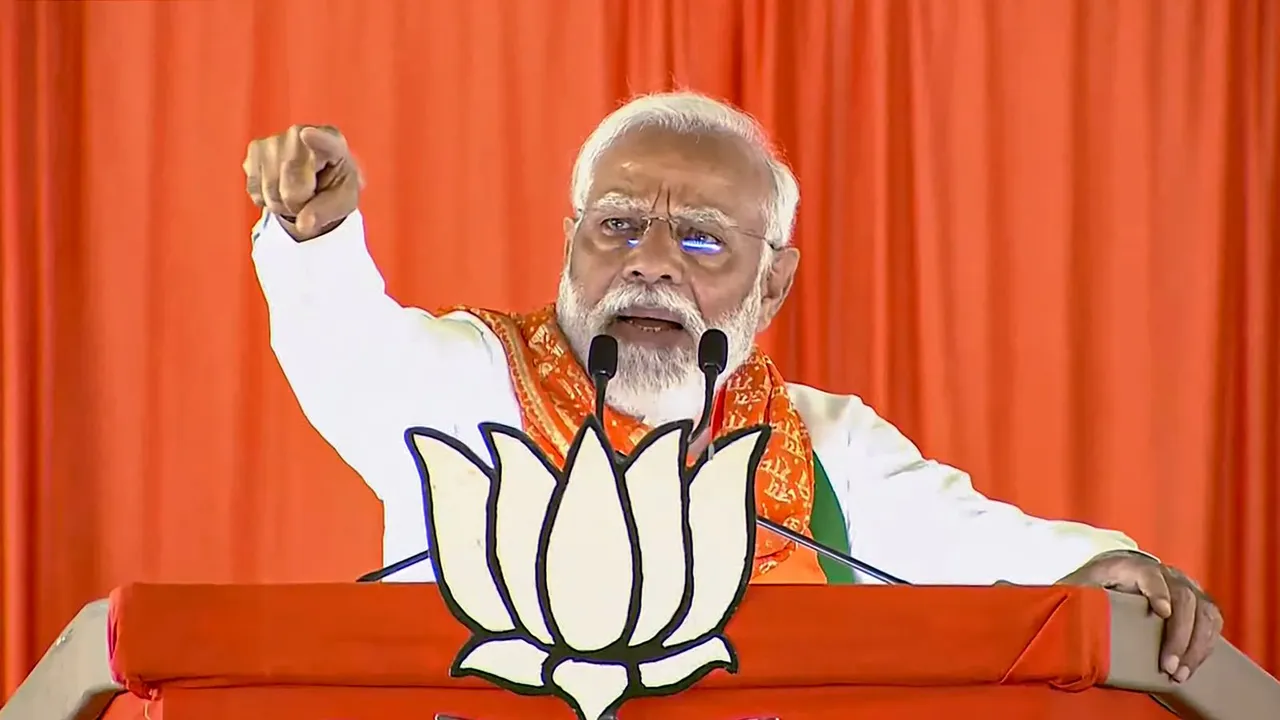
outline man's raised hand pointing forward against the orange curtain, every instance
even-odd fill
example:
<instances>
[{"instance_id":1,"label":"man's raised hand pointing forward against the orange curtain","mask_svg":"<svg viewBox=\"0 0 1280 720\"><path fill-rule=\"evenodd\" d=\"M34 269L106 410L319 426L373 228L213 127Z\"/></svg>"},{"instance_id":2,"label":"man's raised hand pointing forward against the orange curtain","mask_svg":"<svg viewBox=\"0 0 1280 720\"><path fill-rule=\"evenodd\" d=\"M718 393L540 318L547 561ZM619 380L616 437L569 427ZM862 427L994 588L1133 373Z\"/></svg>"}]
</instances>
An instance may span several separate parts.
<instances>
[{"instance_id":1,"label":"man's raised hand pointing forward against the orange curtain","mask_svg":"<svg viewBox=\"0 0 1280 720\"><path fill-rule=\"evenodd\" d=\"M356 210L364 178L332 127L293 126L248 143L246 190L296 240L324 234Z\"/></svg>"}]
</instances>

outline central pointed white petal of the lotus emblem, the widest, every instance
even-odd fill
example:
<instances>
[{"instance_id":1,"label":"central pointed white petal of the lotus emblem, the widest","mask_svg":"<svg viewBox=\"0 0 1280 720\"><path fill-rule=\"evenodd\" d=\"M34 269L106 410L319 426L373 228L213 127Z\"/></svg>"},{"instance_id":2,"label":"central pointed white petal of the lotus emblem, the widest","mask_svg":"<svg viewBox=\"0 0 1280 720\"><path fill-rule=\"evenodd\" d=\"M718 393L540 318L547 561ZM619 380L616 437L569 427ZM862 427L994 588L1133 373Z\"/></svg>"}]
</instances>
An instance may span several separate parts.
<instances>
[{"instance_id":1,"label":"central pointed white petal of the lotus emblem, the widest","mask_svg":"<svg viewBox=\"0 0 1280 720\"><path fill-rule=\"evenodd\" d=\"M622 637L631 611L631 537L612 451L595 425L570 450L547 547L547 591L559 639L576 652Z\"/></svg>"}]
</instances>

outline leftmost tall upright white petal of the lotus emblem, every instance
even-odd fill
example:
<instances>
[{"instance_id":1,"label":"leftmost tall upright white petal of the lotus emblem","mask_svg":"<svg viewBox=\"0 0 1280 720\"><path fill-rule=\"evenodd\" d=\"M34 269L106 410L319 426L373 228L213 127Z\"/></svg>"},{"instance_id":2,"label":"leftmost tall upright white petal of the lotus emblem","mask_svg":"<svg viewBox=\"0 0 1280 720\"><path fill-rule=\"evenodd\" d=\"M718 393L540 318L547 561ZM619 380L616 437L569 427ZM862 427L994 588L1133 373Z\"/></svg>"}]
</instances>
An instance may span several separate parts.
<instances>
[{"instance_id":1,"label":"leftmost tall upright white petal of the lotus emblem","mask_svg":"<svg viewBox=\"0 0 1280 720\"><path fill-rule=\"evenodd\" d=\"M412 438L426 478L428 527L442 592L476 625L493 633L513 630L489 568L488 468L457 441L425 430Z\"/></svg>"}]
</instances>

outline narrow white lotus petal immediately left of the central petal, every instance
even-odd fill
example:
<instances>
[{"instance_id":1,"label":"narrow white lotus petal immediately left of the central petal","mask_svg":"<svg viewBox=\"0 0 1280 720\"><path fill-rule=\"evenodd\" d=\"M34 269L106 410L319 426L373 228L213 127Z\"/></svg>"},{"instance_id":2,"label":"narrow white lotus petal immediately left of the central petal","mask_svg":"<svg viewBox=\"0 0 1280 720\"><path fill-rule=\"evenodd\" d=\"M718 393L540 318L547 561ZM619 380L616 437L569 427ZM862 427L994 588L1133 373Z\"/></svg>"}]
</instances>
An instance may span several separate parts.
<instances>
[{"instance_id":1,"label":"narrow white lotus petal immediately left of the central petal","mask_svg":"<svg viewBox=\"0 0 1280 720\"><path fill-rule=\"evenodd\" d=\"M502 432L489 438L498 469L494 528L502 580L520 623L549 646L552 633L538 600L538 539L556 491L556 475L526 441Z\"/></svg>"}]
</instances>

